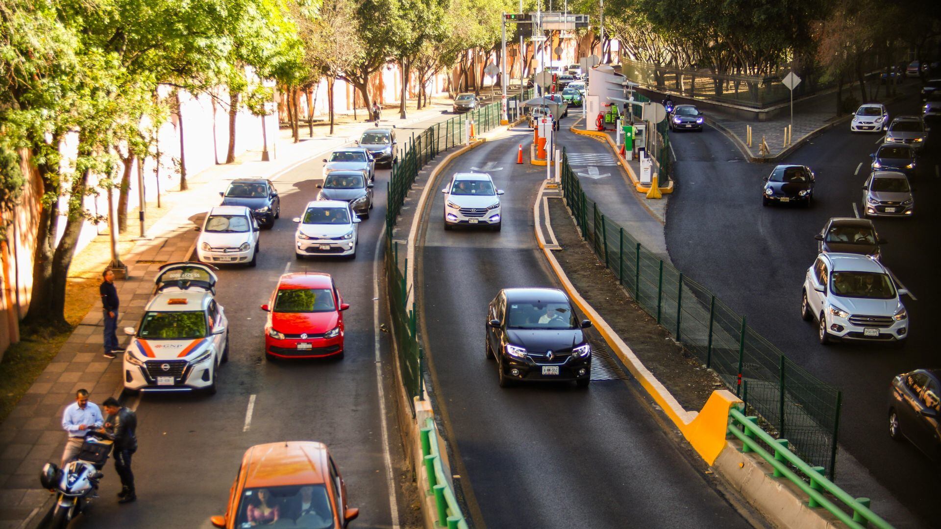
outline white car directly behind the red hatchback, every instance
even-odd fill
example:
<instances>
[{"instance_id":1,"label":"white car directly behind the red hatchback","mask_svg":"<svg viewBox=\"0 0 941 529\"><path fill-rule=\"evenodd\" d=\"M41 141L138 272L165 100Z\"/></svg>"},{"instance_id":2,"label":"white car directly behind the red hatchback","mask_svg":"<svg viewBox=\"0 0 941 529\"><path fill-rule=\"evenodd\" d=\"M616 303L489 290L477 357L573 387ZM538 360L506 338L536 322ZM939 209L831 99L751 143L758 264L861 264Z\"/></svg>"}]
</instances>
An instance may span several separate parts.
<instances>
[{"instance_id":1,"label":"white car directly behind the red hatchback","mask_svg":"<svg viewBox=\"0 0 941 529\"><path fill-rule=\"evenodd\" d=\"M339 255L356 258L359 216L343 200L313 200L295 216L295 256Z\"/></svg>"}]
</instances>

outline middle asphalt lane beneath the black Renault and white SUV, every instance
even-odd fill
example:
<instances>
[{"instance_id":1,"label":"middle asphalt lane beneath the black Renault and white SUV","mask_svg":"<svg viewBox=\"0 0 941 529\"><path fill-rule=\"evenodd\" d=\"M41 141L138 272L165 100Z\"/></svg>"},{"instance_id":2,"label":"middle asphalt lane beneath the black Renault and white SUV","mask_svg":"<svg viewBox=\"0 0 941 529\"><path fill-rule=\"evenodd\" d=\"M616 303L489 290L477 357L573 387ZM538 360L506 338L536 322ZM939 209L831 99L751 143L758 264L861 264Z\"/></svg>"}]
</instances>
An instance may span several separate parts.
<instances>
[{"instance_id":1,"label":"middle asphalt lane beneath the black Renault and white SUV","mask_svg":"<svg viewBox=\"0 0 941 529\"><path fill-rule=\"evenodd\" d=\"M446 176L494 162L502 232L442 227L436 192L424 226L419 306L436 406L478 526L746 527L657 420L632 380L502 389L484 356L486 305L501 288L557 287L534 240L545 168L515 165L529 132L488 141ZM438 187L443 186L439 184ZM435 191L439 191L435 189ZM640 393L638 393L638 391Z\"/></svg>"}]
</instances>

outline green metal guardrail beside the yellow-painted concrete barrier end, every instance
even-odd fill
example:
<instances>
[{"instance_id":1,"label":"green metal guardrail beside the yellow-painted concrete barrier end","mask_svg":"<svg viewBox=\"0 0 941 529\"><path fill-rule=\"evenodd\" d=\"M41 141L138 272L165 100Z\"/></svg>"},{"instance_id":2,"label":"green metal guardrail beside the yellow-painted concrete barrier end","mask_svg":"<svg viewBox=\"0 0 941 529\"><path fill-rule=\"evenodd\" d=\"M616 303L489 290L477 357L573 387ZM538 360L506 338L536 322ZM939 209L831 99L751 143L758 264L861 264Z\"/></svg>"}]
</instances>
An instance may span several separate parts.
<instances>
[{"instance_id":1,"label":"green metal guardrail beside the yellow-painted concrete barrier end","mask_svg":"<svg viewBox=\"0 0 941 529\"><path fill-rule=\"evenodd\" d=\"M853 498L823 475L823 467L814 467L790 451L788 440L774 439L758 425L757 416L746 416L740 409L728 410L728 432L742 441L742 452L754 452L774 467L775 477L786 477L803 490L811 507L823 507L848 526L863 529L891 529L891 525L869 510L869 498ZM764 446L762 446L762 443ZM765 449L765 446L769 450ZM792 470L793 469L793 470ZM796 470L796 472L795 472ZM803 474L803 475L802 475ZM823 493L829 492L843 506L834 504ZM871 525L870 525L871 524Z\"/></svg>"}]
</instances>

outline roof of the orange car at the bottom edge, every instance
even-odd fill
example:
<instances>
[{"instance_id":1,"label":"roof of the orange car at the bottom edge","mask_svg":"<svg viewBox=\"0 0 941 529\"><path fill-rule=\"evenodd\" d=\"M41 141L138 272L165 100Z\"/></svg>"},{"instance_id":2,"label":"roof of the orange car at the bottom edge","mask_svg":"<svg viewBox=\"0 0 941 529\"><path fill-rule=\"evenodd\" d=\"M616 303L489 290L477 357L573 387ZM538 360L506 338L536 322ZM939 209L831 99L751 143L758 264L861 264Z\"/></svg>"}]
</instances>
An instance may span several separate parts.
<instances>
[{"instance_id":1,"label":"roof of the orange car at the bottom edge","mask_svg":"<svg viewBox=\"0 0 941 529\"><path fill-rule=\"evenodd\" d=\"M242 458L245 488L321 485L327 481L327 445L314 441L256 444Z\"/></svg>"}]
</instances>

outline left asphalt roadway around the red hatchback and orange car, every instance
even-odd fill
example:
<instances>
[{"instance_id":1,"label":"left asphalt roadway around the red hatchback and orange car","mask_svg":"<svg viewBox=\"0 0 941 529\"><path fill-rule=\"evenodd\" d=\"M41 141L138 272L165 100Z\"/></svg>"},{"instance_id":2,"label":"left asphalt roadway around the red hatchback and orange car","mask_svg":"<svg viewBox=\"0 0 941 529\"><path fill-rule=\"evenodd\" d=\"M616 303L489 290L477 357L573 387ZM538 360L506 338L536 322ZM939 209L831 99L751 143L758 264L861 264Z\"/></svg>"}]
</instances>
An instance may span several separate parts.
<instances>
[{"instance_id":1,"label":"left asphalt roadway around the red hatchback and orange car","mask_svg":"<svg viewBox=\"0 0 941 529\"><path fill-rule=\"evenodd\" d=\"M421 131L451 116L407 127L399 137ZM337 146L341 143L337 142ZM399 147L405 142L400 141ZM392 527L387 473L376 384L373 305L374 255L386 213L389 169L376 169L375 208L359 224L355 260L295 260L292 217L316 198L321 153L276 181L281 216L263 230L256 268L224 267L216 299L229 318L230 361L222 366L218 393L144 394L137 407L139 449L134 457L137 502L118 505L118 476L109 461L102 500L76 527L211 527L209 517L225 512L229 489L242 455L254 444L271 441L323 441L343 473L349 505L359 507L356 527ZM285 272L331 274L350 309L345 322L343 361L265 361L263 327L268 301ZM381 273L381 266L379 268ZM382 384L394 394L391 361L382 348ZM255 395L250 425L247 406ZM404 473L393 401L386 399L392 472ZM396 479L396 481L399 481ZM407 484L410 485L410 484ZM409 508L396 493L400 513ZM397 521L396 521L397 522Z\"/></svg>"}]
</instances>

